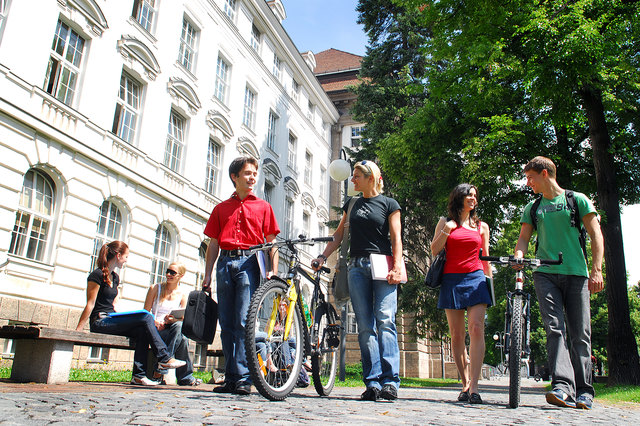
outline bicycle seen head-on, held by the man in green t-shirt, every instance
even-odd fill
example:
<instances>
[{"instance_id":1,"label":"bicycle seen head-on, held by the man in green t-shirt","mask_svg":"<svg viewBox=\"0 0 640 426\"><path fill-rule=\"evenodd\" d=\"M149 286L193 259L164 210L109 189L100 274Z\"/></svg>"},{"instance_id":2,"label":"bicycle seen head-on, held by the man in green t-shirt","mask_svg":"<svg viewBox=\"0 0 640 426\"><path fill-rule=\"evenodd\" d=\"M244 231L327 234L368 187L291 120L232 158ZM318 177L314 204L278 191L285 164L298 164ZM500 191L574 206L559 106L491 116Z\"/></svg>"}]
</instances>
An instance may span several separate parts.
<instances>
[{"instance_id":1,"label":"bicycle seen head-on, held by the man in green t-shirt","mask_svg":"<svg viewBox=\"0 0 640 426\"><path fill-rule=\"evenodd\" d=\"M531 295L524 291L523 268L537 268L540 265L559 265L562 263L562 253L558 253L558 260L525 259L512 256L483 256L480 250L480 260L503 266L517 267L515 290L507 291L507 309L504 322L504 352L507 355L509 369L509 407L518 408L520 405L521 367L531 355L530 322Z\"/></svg>"}]
</instances>

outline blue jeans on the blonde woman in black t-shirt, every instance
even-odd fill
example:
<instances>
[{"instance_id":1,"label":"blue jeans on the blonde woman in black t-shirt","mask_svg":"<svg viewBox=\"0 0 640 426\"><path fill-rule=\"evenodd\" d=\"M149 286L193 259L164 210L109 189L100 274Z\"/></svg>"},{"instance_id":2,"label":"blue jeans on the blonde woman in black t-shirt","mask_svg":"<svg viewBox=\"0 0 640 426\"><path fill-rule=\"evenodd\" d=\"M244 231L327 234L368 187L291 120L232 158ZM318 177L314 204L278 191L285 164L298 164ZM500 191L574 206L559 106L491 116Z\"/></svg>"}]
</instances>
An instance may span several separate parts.
<instances>
[{"instance_id":1,"label":"blue jeans on the blonde woman in black t-shirt","mask_svg":"<svg viewBox=\"0 0 640 426\"><path fill-rule=\"evenodd\" d=\"M368 258L349 263L349 295L358 323L362 375L367 387L400 386L396 331L398 286L372 280Z\"/></svg>"}]
</instances>

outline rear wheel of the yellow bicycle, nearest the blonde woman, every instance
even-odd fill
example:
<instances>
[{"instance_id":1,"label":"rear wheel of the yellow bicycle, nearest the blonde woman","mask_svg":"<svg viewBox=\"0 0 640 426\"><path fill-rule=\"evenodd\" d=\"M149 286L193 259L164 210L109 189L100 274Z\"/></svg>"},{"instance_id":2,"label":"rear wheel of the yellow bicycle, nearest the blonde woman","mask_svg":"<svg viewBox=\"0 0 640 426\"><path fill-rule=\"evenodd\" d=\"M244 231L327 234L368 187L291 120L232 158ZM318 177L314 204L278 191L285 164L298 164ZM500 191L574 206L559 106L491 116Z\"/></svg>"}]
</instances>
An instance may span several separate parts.
<instances>
[{"instance_id":1,"label":"rear wheel of the yellow bicycle, nearest the blonde woman","mask_svg":"<svg viewBox=\"0 0 640 426\"><path fill-rule=\"evenodd\" d=\"M311 342L311 372L313 386L320 396L328 396L336 383L340 326L338 315L329 303L318 306L314 322L314 340Z\"/></svg>"}]
</instances>

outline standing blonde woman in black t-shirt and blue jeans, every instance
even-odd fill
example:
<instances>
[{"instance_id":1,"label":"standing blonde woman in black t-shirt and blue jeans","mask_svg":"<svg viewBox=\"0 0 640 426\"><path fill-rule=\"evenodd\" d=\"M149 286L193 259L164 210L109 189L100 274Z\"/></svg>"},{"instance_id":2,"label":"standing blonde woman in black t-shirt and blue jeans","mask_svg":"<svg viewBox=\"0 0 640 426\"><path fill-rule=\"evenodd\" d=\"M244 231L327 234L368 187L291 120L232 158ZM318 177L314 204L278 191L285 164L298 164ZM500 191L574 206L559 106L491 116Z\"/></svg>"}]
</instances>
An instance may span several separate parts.
<instances>
[{"instance_id":1,"label":"standing blonde woman in black t-shirt and blue jeans","mask_svg":"<svg viewBox=\"0 0 640 426\"><path fill-rule=\"evenodd\" d=\"M358 323L358 343L362 356L362 375L366 390L361 399L394 400L400 385L400 351L396 331L398 284L402 278L402 240L400 205L382 192L380 169L371 161L361 161L353 168L352 182L362 197L358 198L347 218L345 214L333 234L333 241L314 259L319 269L327 256L336 250L349 221L349 295ZM385 280L374 280L369 255L392 256L392 267Z\"/></svg>"}]
</instances>

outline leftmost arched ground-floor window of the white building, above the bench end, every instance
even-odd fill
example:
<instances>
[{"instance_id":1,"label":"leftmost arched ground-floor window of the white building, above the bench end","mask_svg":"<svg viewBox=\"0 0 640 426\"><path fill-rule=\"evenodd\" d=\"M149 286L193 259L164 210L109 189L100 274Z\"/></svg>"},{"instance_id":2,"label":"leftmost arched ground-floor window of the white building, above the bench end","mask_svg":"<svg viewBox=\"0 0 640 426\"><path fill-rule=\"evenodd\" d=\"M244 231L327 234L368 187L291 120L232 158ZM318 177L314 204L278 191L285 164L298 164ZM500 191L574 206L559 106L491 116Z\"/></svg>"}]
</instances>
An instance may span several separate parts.
<instances>
[{"instance_id":1,"label":"leftmost arched ground-floor window of the white building, above the bench end","mask_svg":"<svg viewBox=\"0 0 640 426\"><path fill-rule=\"evenodd\" d=\"M45 260L55 207L55 185L49 176L29 170L20 191L20 208L11 233L9 253L40 262Z\"/></svg>"}]
</instances>

